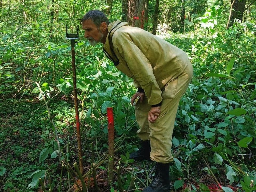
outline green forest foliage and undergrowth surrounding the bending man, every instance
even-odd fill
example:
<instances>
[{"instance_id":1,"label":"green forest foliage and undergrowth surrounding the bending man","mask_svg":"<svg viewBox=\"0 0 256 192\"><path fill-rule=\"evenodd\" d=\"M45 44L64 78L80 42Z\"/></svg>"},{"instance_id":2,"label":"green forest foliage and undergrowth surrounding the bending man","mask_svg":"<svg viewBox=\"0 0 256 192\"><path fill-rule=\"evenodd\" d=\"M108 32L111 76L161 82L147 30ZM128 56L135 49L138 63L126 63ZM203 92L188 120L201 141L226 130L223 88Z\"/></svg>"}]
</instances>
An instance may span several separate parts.
<instances>
[{"instance_id":1,"label":"green forest foliage and undergrowth surrounding the bending man","mask_svg":"<svg viewBox=\"0 0 256 192\"><path fill-rule=\"evenodd\" d=\"M154 3L150 1L152 17ZM251 6L249 19L235 22L226 30L228 1L185 3L186 14L193 13L192 20L185 22L186 33L173 32L180 29L175 12L169 11L178 11L179 1L161 1L158 27L158 35L186 51L194 66L194 78L180 101L175 122L175 159L170 167L173 188L209 190L208 184L217 180L224 191L254 191L255 6ZM55 1L54 7L50 1L3 1L0 190L34 191L39 187L38 178L48 174L46 179L51 185L47 183L47 189L69 188L67 172L58 162L51 124L53 119L62 158L73 164L78 158L71 48L65 40L65 25L74 31L87 10L105 7L103 1ZM54 11L53 20L51 11ZM109 18L120 19L121 13L121 1L114 2ZM151 23L150 17L148 30ZM52 37L50 29L53 29ZM92 161L98 162L107 151L106 108L111 106L115 115L116 159L123 167L135 167L133 172L123 171L123 187L128 189L132 177L136 176L139 179L136 187L143 188L143 183L150 181L146 177L150 171L143 170L150 170L153 165L132 164L127 159L127 151L131 153L139 146L134 109L130 105L135 92L131 79L106 59L102 45L89 46L82 37L83 31L79 33L81 38L75 51L84 165L90 167ZM43 97L50 108L50 117ZM100 169L107 166L106 161ZM70 182L72 185L73 181ZM113 188L118 188L117 183Z\"/></svg>"}]
</instances>

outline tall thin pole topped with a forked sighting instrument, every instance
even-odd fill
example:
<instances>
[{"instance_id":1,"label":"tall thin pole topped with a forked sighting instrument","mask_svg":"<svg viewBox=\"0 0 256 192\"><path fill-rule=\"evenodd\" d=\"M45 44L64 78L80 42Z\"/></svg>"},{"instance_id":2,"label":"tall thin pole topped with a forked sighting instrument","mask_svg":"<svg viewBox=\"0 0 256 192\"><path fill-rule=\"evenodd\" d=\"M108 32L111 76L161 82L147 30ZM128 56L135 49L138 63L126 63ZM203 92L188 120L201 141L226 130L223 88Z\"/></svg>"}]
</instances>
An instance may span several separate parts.
<instances>
[{"instance_id":1,"label":"tall thin pole topped with a forked sighting instrument","mask_svg":"<svg viewBox=\"0 0 256 192\"><path fill-rule=\"evenodd\" d=\"M77 148L78 148L78 157L79 157L79 169L83 174L83 154L82 154L82 146L81 146L81 133L80 133L80 122L79 122L79 111L78 111L78 99L77 99L77 79L75 74L75 43L77 43L79 25L77 26L77 33L67 33L67 25L66 25L66 39L70 39L71 44L71 54L72 54L72 71L73 71L73 89L74 89L74 104L75 104L75 120L77 127Z\"/></svg>"}]
</instances>

